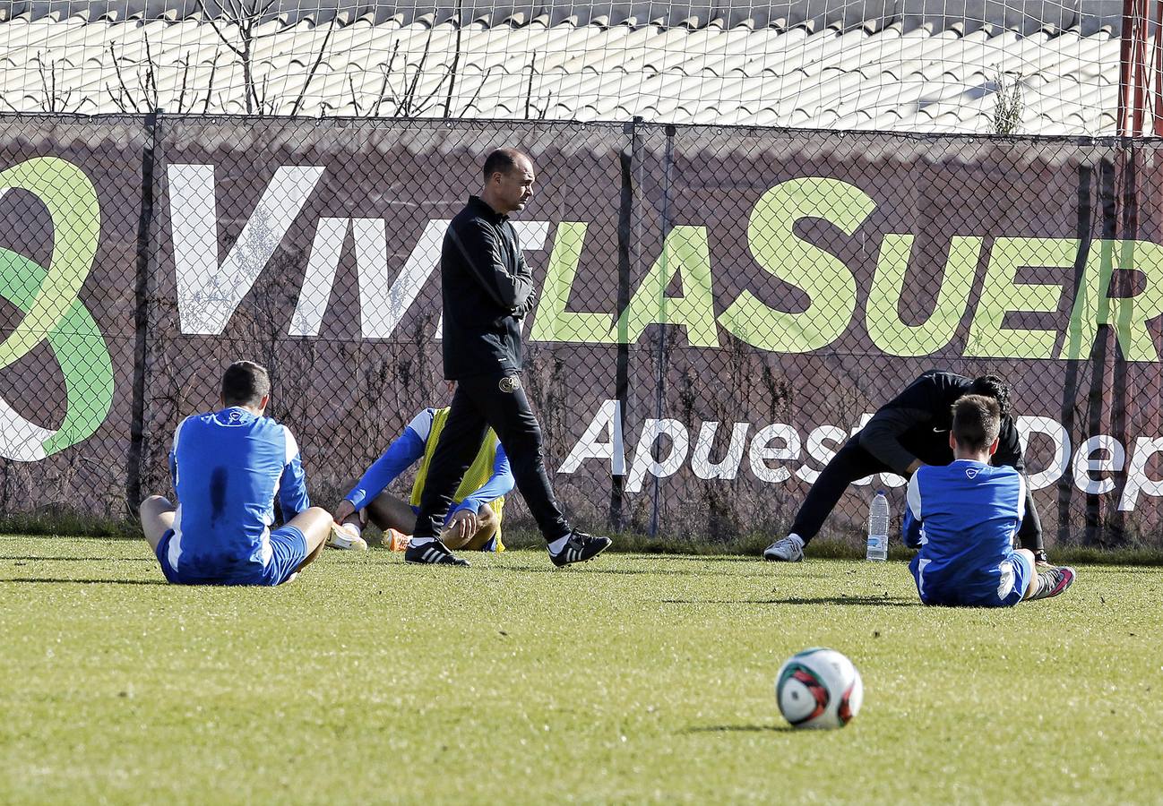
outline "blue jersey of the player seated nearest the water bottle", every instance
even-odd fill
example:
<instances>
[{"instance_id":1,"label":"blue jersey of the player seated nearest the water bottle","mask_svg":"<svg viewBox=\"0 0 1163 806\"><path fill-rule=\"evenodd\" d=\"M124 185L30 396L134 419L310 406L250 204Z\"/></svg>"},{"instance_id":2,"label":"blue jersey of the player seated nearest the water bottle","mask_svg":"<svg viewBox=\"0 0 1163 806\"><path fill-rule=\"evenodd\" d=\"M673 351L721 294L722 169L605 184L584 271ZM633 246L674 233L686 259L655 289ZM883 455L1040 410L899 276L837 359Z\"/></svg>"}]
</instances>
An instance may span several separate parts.
<instances>
[{"instance_id":1,"label":"blue jersey of the player seated nearest the water bottle","mask_svg":"<svg viewBox=\"0 0 1163 806\"><path fill-rule=\"evenodd\" d=\"M1026 515L1026 478L1013 468L957 459L908 480L921 550L911 569L923 601L987 604L1013 587L1009 556ZM1007 589L1007 590L1004 590Z\"/></svg>"}]
</instances>

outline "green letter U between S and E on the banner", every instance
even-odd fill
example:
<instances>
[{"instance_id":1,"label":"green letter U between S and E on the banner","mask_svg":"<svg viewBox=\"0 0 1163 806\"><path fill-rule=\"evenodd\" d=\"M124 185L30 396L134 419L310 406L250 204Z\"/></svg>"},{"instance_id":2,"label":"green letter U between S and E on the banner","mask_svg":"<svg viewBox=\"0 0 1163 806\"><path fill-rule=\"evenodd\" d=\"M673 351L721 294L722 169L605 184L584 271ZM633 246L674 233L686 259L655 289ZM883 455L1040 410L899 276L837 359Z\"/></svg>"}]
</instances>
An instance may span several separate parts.
<instances>
[{"instance_id":1,"label":"green letter U between S and E on the banner","mask_svg":"<svg viewBox=\"0 0 1163 806\"><path fill-rule=\"evenodd\" d=\"M923 324L905 324L900 320L900 297L913 250L913 236L885 235L864 309L872 342L891 356L927 356L952 341L969 305L982 241L979 237L952 237L933 313Z\"/></svg>"}]
</instances>

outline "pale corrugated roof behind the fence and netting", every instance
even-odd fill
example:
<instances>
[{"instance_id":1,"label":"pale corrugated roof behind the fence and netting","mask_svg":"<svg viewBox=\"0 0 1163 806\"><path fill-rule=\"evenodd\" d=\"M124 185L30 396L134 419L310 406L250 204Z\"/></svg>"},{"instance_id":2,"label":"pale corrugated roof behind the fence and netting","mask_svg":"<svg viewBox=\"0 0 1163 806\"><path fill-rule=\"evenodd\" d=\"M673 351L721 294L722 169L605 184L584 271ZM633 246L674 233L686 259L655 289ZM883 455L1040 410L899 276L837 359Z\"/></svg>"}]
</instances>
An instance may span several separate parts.
<instances>
[{"instance_id":1,"label":"pale corrugated roof behind the fence and netting","mask_svg":"<svg viewBox=\"0 0 1163 806\"><path fill-rule=\"evenodd\" d=\"M120 10L134 19L110 14L110 2L14 2L0 22L0 107L312 116L443 115L448 107L454 116L477 117L641 115L673 123L987 133L996 130L999 90L1018 83L1023 108L1016 131L1114 133L1113 26L1041 24L1022 33L1025 23L908 24L923 14L850 24L849 5L833 6L835 22L820 28L806 13L808 21L793 27L730 26L726 17L666 26L640 22L629 14L638 8L632 3L618 5L627 12L619 24L592 13L585 24L576 17L550 24L551 14L511 8L458 27L437 15L407 22L379 6L357 17L350 15L363 6L338 16L333 6L324 22L319 3L311 16L284 0L284 14L256 19L248 36L245 20L206 20L183 0L122 1ZM923 0L913 5L927 7ZM666 8L673 16L682 7ZM1059 16L1069 12L1058 8ZM248 41L250 85L236 52Z\"/></svg>"}]
</instances>

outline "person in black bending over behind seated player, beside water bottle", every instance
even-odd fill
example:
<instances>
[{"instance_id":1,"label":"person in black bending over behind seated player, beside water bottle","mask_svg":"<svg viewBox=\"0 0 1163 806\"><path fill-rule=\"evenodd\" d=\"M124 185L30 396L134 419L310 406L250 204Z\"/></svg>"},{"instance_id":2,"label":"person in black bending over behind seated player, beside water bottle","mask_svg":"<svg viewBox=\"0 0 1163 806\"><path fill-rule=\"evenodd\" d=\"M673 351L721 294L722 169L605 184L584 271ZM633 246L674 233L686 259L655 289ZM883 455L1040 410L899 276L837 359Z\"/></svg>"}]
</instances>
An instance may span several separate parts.
<instances>
[{"instance_id":1,"label":"person in black bending over behind seated player, beside water bottle","mask_svg":"<svg viewBox=\"0 0 1163 806\"><path fill-rule=\"evenodd\" d=\"M952 449L949 447L952 405L965 394L984 394L1000 404L1001 434L993 464L1007 464L1021 472L1025 463L1018 428L1009 415L1009 387L1006 383L991 375L966 378L929 370L882 406L868 425L844 443L812 485L791 532L769 545L763 558L780 562L802 559L804 547L816 535L852 482L887 471L908 477L922 465L952 462ZM1042 522L1028 486L1026 516L1018 536L1022 548L1033 551L1039 563L1046 563Z\"/></svg>"}]
</instances>

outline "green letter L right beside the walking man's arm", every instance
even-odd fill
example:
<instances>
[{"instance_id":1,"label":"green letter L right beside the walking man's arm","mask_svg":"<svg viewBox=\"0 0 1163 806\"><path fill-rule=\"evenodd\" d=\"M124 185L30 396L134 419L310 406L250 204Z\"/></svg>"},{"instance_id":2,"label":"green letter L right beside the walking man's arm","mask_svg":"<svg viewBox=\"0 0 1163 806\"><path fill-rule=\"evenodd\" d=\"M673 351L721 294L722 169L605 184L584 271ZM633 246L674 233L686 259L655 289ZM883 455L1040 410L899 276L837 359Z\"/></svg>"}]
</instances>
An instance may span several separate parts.
<instances>
[{"instance_id":1,"label":"green letter L right beside the walking man's arm","mask_svg":"<svg viewBox=\"0 0 1163 806\"><path fill-rule=\"evenodd\" d=\"M582 262L585 230L586 224L582 221L563 221L557 224L537 315L529 331L531 341L585 344L614 342L613 314L575 313L565 309Z\"/></svg>"}]
</instances>

